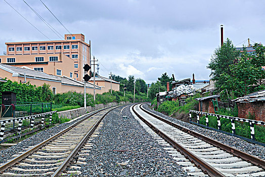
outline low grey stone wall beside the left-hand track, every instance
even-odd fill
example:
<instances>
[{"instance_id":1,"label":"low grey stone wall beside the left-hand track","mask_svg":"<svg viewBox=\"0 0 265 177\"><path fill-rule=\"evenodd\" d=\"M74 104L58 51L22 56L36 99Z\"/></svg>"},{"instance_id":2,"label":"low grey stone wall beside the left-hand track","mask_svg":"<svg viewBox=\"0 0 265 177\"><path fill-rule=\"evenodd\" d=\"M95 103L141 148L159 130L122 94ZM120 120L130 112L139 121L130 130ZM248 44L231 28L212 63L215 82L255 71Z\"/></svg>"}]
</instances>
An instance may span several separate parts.
<instances>
[{"instance_id":1,"label":"low grey stone wall beside the left-hand track","mask_svg":"<svg viewBox=\"0 0 265 177\"><path fill-rule=\"evenodd\" d=\"M87 112L92 112L98 109L102 109L102 108L106 108L106 107L110 107L110 106L116 106L116 105L122 105L122 104L128 104L129 102L120 102L120 103L116 103L116 102L112 102L112 103L107 103L106 105L104 104L98 104L95 105L95 107L92 106L87 106L86 107L86 111L84 109L84 107L82 108L77 108L77 109L71 109L71 110L67 110L67 111L61 111L58 112L58 116L59 118L70 118L70 119L74 119L76 117L79 117L83 114L86 114Z\"/></svg>"}]
</instances>

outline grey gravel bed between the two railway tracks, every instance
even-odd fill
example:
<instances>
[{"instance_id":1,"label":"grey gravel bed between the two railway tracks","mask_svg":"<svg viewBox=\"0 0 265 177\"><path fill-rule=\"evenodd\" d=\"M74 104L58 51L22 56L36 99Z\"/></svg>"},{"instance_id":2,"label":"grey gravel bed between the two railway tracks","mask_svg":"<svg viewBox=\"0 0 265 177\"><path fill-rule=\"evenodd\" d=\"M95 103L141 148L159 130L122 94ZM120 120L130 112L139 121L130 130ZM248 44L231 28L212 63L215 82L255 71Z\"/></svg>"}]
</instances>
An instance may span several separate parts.
<instances>
[{"instance_id":1,"label":"grey gravel bed between the two railway tracks","mask_svg":"<svg viewBox=\"0 0 265 177\"><path fill-rule=\"evenodd\" d=\"M80 176L187 176L132 116L129 107L122 114L122 107L115 109L103 119L100 134L91 142L94 146L87 164L78 169Z\"/></svg>"}]
</instances>

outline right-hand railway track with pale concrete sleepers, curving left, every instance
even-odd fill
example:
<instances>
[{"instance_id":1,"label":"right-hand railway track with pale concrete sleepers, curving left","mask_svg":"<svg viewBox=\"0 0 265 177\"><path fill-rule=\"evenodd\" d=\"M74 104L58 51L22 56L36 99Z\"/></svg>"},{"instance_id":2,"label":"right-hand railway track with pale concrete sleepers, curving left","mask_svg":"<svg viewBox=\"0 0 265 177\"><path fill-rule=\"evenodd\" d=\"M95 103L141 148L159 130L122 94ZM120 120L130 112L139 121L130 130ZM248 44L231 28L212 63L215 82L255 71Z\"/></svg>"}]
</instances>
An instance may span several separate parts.
<instances>
[{"instance_id":1,"label":"right-hand railway track with pale concrete sleepers, curving left","mask_svg":"<svg viewBox=\"0 0 265 177\"><path fill-rule=\"evenodd\" d=\"M166 146L164 149L173 156L176 163L185 166L189 175L265 176L265 161L262 159L170 122L143 109L140 104L131 110L141 119L149 134L159 144ZM168 147L168 143L174 148Z\"/></svg>"}]
</instances>

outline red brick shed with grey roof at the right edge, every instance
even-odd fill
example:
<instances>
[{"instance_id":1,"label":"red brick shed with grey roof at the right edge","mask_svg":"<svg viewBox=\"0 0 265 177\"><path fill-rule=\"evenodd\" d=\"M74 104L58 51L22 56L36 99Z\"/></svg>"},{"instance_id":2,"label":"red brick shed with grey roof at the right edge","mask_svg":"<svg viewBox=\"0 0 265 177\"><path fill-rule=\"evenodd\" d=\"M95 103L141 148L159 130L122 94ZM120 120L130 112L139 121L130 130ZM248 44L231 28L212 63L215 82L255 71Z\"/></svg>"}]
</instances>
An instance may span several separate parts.
<instances>
[{"instance_id":1,"label":"red brick shed with grey roof at the right edge","mask_svg":"<svg viewBox=\"0 0 265 177\"><path fill-rule=\"evenodd\" d=\"M265 121L265 90L233 100L238 105L238 117Z\"/></svg>"}]
</instances>

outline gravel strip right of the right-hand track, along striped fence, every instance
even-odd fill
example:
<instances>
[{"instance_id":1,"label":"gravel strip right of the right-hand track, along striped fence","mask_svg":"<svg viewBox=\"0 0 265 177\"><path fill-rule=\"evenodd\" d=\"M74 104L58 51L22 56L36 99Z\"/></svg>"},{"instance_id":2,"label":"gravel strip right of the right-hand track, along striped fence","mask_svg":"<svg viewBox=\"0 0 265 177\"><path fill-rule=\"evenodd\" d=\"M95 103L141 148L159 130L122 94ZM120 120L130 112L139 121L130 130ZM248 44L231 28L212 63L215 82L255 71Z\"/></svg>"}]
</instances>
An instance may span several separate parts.
<instances>
[{"instance_id":1,"label":"gravel strip right of the right-hand track, along striped fence","mask_svg":"<svg viewBox=\"0 0 265 177\"><path fill-rule=\"evenodd\" d=\"M152 112L152 113L155 113L163 118L166 118L167 120L170 120L174 123L178 123L184 127L187 127L189 128L190 130L193 130L193 131L196 131L196 132L199 132L200 134L208 137L208 138L211 138L213 140L216 140L220 143L223 143L223 144L226 144L228 146L231 146L231 147L234 147L238 150L241 150L243 152L246 152L248 154L251 154L253 156L256 156L258 158L261 158L263 160L265 160L265 148L263 146L259 146L259 145L256 145L256 144L251 144L251 143L248 143L240 138L236 138L236 137L232 137L232 136L229 136L229 135L226 135L226 134L223 134L222 132L217 132L217 131L214 131L214 130L210 130L210 129L205 129L205 128L202 128L200 126L197 126L197 125L193 125L193 124L190 124L190 123L187 123L187 122L183 122L181 120L178 120L178 119L175 119L175 118L172 118L172 117L168 117L167 115L164 115L160 112L157 112L157 111L153 111L152 109L150 109L146 104L143 105L143 107L145 109L147 109L148 111Z\"/></svg>"}]
</instances>

